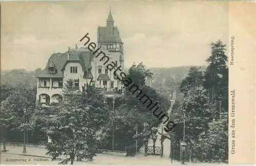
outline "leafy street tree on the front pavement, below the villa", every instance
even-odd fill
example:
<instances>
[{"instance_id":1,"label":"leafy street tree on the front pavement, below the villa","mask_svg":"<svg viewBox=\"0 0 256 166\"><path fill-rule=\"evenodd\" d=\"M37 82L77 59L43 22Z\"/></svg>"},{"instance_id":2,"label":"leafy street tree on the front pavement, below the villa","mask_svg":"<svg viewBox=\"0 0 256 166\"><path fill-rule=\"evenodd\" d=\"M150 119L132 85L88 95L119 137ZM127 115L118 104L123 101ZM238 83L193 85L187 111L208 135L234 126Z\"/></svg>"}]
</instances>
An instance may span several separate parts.
<instances>
[{"instance_id":1,"label":"leafy street tree on the front pavement, below the villa","mask_svg":"<svg viewBox=\"0 0 256 166\"><path fill-rule=\"evenodd\" d=\"M50 123L47 134L52 143L47 144L47 154L53 159L60 155L67 158L61 163L73 164L82 159L92 159L97 150L96 130L94 120L89 116L89 107L84 109L63 103L59 107L57 116Z\"/></svg>"}]
</instances>

